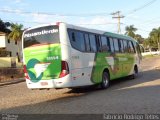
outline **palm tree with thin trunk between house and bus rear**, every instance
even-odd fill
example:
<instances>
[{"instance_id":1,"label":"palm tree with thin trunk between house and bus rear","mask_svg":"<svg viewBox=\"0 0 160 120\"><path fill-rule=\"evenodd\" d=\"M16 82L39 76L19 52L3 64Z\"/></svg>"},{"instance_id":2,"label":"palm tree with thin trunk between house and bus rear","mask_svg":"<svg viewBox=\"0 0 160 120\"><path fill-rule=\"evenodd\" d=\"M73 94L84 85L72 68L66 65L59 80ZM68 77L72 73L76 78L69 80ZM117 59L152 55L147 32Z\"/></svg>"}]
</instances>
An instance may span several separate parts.
<instances>
[{"instance_id":1,"label":"palm tree with thin trunk between house and bus rear","mask_svg":"<svg viewBox=\"0 0 160 120\"><path fill-rule=\"evenodd\" d=\"M21 38L22 38L22 28L23 28L23 25L22 24L14 24L12 23L11 24L11 33L9 34L8 38L11 39L11 40L14 40L15 42L17 42L18 44L18 54L17 54L17 57L18 57L18 61L20 61L20 41L21 41Z\"/></svg>"}]
</instances>

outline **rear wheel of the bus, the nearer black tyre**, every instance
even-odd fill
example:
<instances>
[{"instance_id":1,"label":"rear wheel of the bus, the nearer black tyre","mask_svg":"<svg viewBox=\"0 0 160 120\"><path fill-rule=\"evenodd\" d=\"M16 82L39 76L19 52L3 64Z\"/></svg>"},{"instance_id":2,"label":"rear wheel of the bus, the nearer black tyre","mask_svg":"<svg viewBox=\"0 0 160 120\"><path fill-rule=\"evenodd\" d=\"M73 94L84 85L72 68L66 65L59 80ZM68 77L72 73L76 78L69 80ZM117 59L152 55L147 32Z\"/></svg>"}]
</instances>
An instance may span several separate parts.
<instances>
[{"instance_id":1,"label":"rear wheel of the bus, the nearer black tyre","mask_svg":"<svg viewBox=\"0 0 160 120\"><path fill-rule=\"evenodd\" d=\"M109 87L109 74L108 72L104 71L102 75L101 88L106 89L108 87Z\"/></svg>"}]
</instances>

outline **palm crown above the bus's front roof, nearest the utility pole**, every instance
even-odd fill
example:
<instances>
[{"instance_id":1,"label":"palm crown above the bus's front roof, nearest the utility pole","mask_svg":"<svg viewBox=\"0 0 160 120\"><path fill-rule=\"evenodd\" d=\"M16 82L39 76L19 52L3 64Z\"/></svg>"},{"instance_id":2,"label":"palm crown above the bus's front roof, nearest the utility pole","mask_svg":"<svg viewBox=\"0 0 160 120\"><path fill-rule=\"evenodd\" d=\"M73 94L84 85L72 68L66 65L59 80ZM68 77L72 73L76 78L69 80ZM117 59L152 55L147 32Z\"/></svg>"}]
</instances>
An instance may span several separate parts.
<instances>
[{"instance_id":1,"label":"palm crown above the bus's front roof, nearest the utility pole","mask_svg":"<svg viewBox=\"0 0 160 120\"><path fill-rule=\"evenodd\" d=\"M137 28L135 28L134 25L126 26L125 30L125 35L128 35L133 38L135 37L135 32L137 31Z\"/></svg>"}]
</instances>

